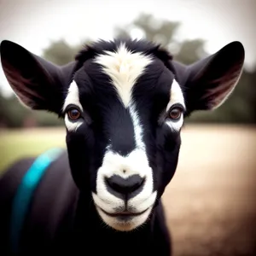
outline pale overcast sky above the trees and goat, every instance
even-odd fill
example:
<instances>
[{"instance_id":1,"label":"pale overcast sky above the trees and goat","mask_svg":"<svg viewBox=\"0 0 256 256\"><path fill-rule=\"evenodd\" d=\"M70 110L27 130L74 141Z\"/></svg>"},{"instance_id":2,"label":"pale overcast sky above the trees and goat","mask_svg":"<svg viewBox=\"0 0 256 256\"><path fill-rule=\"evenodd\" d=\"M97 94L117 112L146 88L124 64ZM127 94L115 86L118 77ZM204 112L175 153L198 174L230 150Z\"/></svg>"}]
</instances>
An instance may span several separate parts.
<instances>
[{"instance_id":1,"label":"pale overcast sky above the trees and goat","mask_svg":"<svg viewBox=\"0 0 256 256\"><path fill-rule=\"evenodd\" d=\"M255 0L0 0L0 41L15 41L40 55L60 38L69 44L111 39L114 26L130 23L142 12L181 21L179 38L204 38L209 53L241 41L246 67L256 65ZM8 95L2 67L0 85Z\"/></svg>"}]
</instances>

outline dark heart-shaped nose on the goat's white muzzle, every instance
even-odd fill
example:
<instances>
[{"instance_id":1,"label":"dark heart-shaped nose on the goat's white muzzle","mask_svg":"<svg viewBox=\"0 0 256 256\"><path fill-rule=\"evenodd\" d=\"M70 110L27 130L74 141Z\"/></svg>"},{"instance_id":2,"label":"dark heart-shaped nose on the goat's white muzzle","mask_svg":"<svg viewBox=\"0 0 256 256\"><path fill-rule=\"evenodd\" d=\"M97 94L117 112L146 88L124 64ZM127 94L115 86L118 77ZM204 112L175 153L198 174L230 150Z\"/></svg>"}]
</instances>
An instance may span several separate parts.
<instances>
[{"instance_id":1,"label":"dark heart-shaped nose on the goat's white muzzle","mask_svg":"<svg viewBox=\"0 0 256 256\"><path fill-rule=\"evenodd\" d=\"M143 189L144 181L145 178L140 177L139 175L132 175L127 178L123 178L118 175L113 175L112 177L106 178L108 189L113 189L113 191L118 192L119 194L122 195L129 195L136 191L136 194L138 194L141 191L141 189Z\"/></svg>"}]
</instances>

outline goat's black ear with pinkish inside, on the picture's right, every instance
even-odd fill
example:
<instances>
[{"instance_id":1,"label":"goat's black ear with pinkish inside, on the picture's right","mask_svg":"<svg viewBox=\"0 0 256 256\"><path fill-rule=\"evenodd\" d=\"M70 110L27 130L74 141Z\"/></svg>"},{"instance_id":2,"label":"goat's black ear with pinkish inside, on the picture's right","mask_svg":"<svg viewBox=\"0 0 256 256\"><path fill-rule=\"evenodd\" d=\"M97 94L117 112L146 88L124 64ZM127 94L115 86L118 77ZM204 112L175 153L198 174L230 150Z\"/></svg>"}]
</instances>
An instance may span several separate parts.
<instances>
[{"instance_id":1,"label":"goat's black ear with pinkish inside, on the picture's right","mask_svg":"<svg viewBox=\"0 0 256 256\"><path fill-rule=\"evenodd\" d=\"M242 44L232 42L188 67L177 67L188 112L222 105L240 79L244 57Z\"/></svg>"}]
</instances>

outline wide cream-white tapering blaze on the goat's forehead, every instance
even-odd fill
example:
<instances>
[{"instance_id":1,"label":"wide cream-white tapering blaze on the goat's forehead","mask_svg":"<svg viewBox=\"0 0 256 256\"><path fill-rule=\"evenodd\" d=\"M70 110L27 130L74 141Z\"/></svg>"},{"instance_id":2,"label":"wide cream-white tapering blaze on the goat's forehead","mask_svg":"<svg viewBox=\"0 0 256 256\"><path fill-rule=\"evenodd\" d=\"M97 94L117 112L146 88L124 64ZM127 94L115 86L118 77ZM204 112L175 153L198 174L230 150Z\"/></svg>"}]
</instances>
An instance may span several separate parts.
<instances>
[{"instance_id":1,"label":"wide cream-white tapering blaze on the goat's forehead","mask_svg":"<svg viewBox=\"0 0 256 256\"><path fill-rule=\"evenodd\" d=\"M133 85L152 59L143 53L132 53L125 48L125 44L120 44L115 52L105 51L105 54L98 55L95 62L102 65L103 71L112 79L121 101L127 107Z\"/></svg>"}]
</instances>

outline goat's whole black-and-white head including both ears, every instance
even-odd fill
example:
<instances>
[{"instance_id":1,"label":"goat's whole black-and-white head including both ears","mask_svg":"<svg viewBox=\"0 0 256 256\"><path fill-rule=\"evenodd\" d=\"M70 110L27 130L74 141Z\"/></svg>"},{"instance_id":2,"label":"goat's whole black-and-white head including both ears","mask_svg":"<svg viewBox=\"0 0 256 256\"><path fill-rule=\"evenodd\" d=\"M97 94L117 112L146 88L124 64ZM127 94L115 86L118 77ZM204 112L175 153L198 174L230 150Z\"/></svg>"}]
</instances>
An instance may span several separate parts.
<instances>
[{"instance_id":1,"label":"goat's whole black-and-white head including both ears","mask_svg":"<svg viewBox=\"0 0 256 256\"><path fill-rule=\"evenodd\" d=\"M238 42L189 67L137 40L100 41L65 67L9 41L1 53L21 102L63 117L75 183L90 191L102 220L122 231L150 218L171 181L183 118L221 105L244 61Z\"/></svg>"}]
</instances>

